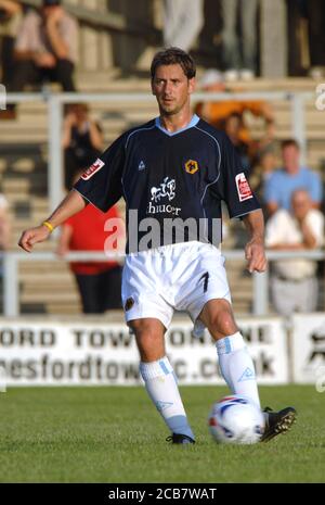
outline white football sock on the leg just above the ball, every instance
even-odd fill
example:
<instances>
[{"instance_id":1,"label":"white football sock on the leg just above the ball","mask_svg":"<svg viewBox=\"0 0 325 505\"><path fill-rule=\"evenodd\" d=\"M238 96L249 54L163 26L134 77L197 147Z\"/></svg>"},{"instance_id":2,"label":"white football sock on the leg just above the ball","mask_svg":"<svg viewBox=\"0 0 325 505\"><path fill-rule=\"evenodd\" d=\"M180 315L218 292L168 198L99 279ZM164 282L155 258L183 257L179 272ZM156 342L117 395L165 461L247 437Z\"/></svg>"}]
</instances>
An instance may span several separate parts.
<instances>
[{"instance_id":1,"label":"white football sock on the leg just above the ball","mask_svg":"<svg viewBox=\"0 0 325 505\"><path fill-rule=\"evenodd\" d=\"M260 406L255 366L239 331L217 341L219 366L233 394L243 394Z\"/></svg>"}]
</instances>

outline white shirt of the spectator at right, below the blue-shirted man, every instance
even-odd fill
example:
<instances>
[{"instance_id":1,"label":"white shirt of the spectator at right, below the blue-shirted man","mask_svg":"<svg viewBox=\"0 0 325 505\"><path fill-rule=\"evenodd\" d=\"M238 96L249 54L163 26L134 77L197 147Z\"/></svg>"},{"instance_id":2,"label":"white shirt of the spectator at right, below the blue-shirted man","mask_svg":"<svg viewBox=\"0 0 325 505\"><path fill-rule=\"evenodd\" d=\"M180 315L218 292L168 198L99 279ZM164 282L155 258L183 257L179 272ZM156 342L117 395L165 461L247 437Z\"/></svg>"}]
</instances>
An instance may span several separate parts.
<instances>
[{"instance_id":1,"label":"white shirt of the spectator at right, below the blue-shirted man","mask_svg":"<svg viewBox=\"0 0 325 505\"><path fill-rule=\"evenodd\" d=\"M317 210L310 210L306 216L306 224L316 240L316 248L324 242L324 216ZM298 220L287 211L280 210L270 217L265 229L265 245L272 248L278 243L298 244L303 241L303 236ZM311 277L316 270L316 262L313 260L281 260L274 262L274 270L277 275L287 279L299 280Z\"/></svg>"}]
</instances>

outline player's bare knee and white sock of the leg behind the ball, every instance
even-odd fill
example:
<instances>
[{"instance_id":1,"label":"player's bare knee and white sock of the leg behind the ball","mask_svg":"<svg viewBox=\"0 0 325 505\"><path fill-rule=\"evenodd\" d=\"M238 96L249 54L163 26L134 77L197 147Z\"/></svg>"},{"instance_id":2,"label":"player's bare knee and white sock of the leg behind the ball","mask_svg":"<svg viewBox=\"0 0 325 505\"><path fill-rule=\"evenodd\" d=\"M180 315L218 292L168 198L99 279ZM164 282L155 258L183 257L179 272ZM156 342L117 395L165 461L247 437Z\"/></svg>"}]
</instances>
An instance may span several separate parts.
<instances>
[{"instance_id":1,"label":"player's bare knee and white sock of the leg behind the ball","mask_svg":"<svg viewBox=\"0 0 325 505\"><path fill-rule=\"evenodd\" d=\"M253 362L238 331L227 300L208 301L199 319L216 340L221 374L234 394L243 394L260 405Z\"/></svg>"}]
</instances>

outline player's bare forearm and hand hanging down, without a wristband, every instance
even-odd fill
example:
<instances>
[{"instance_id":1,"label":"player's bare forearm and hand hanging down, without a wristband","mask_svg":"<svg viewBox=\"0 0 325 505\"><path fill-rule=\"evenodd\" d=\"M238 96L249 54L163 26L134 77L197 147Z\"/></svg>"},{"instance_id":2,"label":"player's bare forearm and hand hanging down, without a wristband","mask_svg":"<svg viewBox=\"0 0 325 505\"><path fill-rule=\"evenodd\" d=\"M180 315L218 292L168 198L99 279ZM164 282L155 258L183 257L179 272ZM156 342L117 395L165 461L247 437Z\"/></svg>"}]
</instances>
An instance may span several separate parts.
<instances>
[{"instance_id":1,"label":"player's bare forearm and hand hanging down, without a wristband","mask_svg":"<svg viewBox=\"0 0 325 505\"><path fill-rule=\"evenodd\" d=\"M264 251L264 218L260 209L250 212L243 217L243 222L249 235L249 241L245 248L247 269L252 272L264 272L266 257Z\"/></svg>"}]
</instances>

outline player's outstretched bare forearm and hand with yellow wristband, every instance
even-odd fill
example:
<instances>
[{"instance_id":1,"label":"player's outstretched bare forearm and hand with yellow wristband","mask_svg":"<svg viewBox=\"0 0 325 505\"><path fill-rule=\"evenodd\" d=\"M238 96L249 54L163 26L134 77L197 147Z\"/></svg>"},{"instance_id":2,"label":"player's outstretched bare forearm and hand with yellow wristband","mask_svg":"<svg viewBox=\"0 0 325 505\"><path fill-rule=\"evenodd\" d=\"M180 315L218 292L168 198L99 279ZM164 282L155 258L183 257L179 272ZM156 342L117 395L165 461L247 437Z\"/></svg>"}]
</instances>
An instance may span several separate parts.
<instances>
[{"instance_id":1,"label":"player's outstretched bare forearm and hand with yellow wristband","mask_svg":"<svg viewBox=\"0 0 325 505\"><path fill-rule=\"evenodd\" d=\"M72 190L67 197L60 203L53 214L46 220L49 225L40 225L36 228L29 228L23 231L18 245L24 251L31 252L35 243L43 242L51 233L51 229L62 225L70 216L82 211L87 205L86 200L75 190Z\"/></svg>"}]
</instances>

